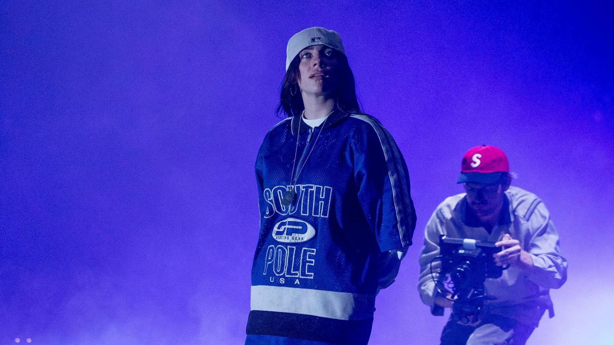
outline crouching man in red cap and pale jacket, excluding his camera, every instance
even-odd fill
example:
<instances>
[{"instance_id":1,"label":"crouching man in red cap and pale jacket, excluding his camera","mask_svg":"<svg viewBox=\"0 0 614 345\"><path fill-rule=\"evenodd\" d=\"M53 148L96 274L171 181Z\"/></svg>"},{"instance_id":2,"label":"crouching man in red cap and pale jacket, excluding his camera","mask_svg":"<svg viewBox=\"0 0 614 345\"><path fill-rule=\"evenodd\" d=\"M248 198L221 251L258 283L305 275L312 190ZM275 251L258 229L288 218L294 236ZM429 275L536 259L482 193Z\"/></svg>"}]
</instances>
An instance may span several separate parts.
<instances>
[{"instance_id":1,"label":"crouching man in red cap and pale jacket, excluding his camera","mask_svg":"<svg viewBox=\"0 0 614 345\"><path fill-rule=\"evenodd\" d=\"M554 316L548 291L567 279L567 260L546 206L534 194L510 187L509 172L498 147L468 150L457 180L467 193L446 198L427 223L418 290L433 315L443 315L443 308L454 303L435 284L441 268L439 235L495 242L502 247L493 255L495 263L509 265L500 278L486 279L492 300L486 300L479 319L468 325L448 320L441 345L525 344L546 309Z\"/></svg>"}]
</instances>

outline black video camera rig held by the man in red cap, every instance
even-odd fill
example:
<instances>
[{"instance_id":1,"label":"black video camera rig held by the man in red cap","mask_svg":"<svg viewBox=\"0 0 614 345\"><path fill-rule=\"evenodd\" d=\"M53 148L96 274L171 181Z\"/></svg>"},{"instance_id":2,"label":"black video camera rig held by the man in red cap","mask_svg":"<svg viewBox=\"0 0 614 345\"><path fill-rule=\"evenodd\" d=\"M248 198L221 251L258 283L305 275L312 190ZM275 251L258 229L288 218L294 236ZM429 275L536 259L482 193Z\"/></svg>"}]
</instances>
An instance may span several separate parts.
<instances>
[{"instance_id":1,"label":"black video camera rig held by the man in red cap","mask_svg":"<svg viewBox=\"0 0 614 345\"><path fill-rule=\"evenodd\" d=\"M495 247L493 242L445 235L439 236L439 246L441 272L436 287L441 292L440 287L449 276L453 284L452 319L465 325L475 322L484 307L484 300L494 300L494 297L484 294L484 281L486 278L499 278L505 269L497 266L492 258L501 248Z\"/></svg>"}]
</instances>

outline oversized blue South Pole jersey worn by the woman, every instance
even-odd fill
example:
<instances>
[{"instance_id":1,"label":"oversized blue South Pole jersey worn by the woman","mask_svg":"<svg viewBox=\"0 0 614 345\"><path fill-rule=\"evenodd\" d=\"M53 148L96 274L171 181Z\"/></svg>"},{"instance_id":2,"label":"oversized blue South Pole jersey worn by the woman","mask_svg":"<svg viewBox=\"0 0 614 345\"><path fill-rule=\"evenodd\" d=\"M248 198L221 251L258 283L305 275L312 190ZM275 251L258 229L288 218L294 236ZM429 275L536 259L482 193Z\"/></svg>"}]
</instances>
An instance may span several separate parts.
<instances>
[{"instance_id":1,"label":"oversized blue South Pole jersey worn by the woman","mask_svg":"<svg viewBox=\"0 0 614 345\"><path fill-rule=\"evenodd\" d=\"M407 167L369 115L335 110L319 127L302 122L300 133L299 122L278 123L258 152L246 344L367 344L379 258L410 246L416 225Z\"/></svg>"}]
</instances>

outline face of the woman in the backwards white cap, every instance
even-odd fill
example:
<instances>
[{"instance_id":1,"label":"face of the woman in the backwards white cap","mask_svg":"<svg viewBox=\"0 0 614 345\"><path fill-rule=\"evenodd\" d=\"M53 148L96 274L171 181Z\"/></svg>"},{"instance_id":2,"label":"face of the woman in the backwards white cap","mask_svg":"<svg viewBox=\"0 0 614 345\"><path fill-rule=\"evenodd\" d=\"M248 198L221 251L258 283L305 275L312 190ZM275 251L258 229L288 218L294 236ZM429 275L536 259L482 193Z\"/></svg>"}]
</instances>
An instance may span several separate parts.
<instances>
[{"instance_id":1,"label":"face of the woman in the backwards white cap","mask_svg":"<svg viewBox=\"0 0 614 345\"><path fill-rule=\"evenodd\" d=\"M336 82L338 52L326 45L312 45L298 53L298 87L303 94L326 95Z\"/></svg>"}]
</instances>

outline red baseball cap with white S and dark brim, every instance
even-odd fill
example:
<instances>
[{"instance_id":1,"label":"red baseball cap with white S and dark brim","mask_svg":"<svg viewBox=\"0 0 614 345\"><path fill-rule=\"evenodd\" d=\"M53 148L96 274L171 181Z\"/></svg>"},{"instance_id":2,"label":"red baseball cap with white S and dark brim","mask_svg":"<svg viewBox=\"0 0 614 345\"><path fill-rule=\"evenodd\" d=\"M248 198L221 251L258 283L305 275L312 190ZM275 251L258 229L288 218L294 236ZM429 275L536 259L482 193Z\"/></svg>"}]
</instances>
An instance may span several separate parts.
<instances>
[{"instance_id":1,"label":"red baseball cap with white S and dark brim","mask_svg":"<svg viewBox=\"0 0 614 345\"><path fill-rule=\"evenodd\" d=\"M503 172L510 172L510 163L503 150L489 145L476 146L462 157L461 175L456 183L492 184L499 180Z\"/></svg>"}]
</instances>

